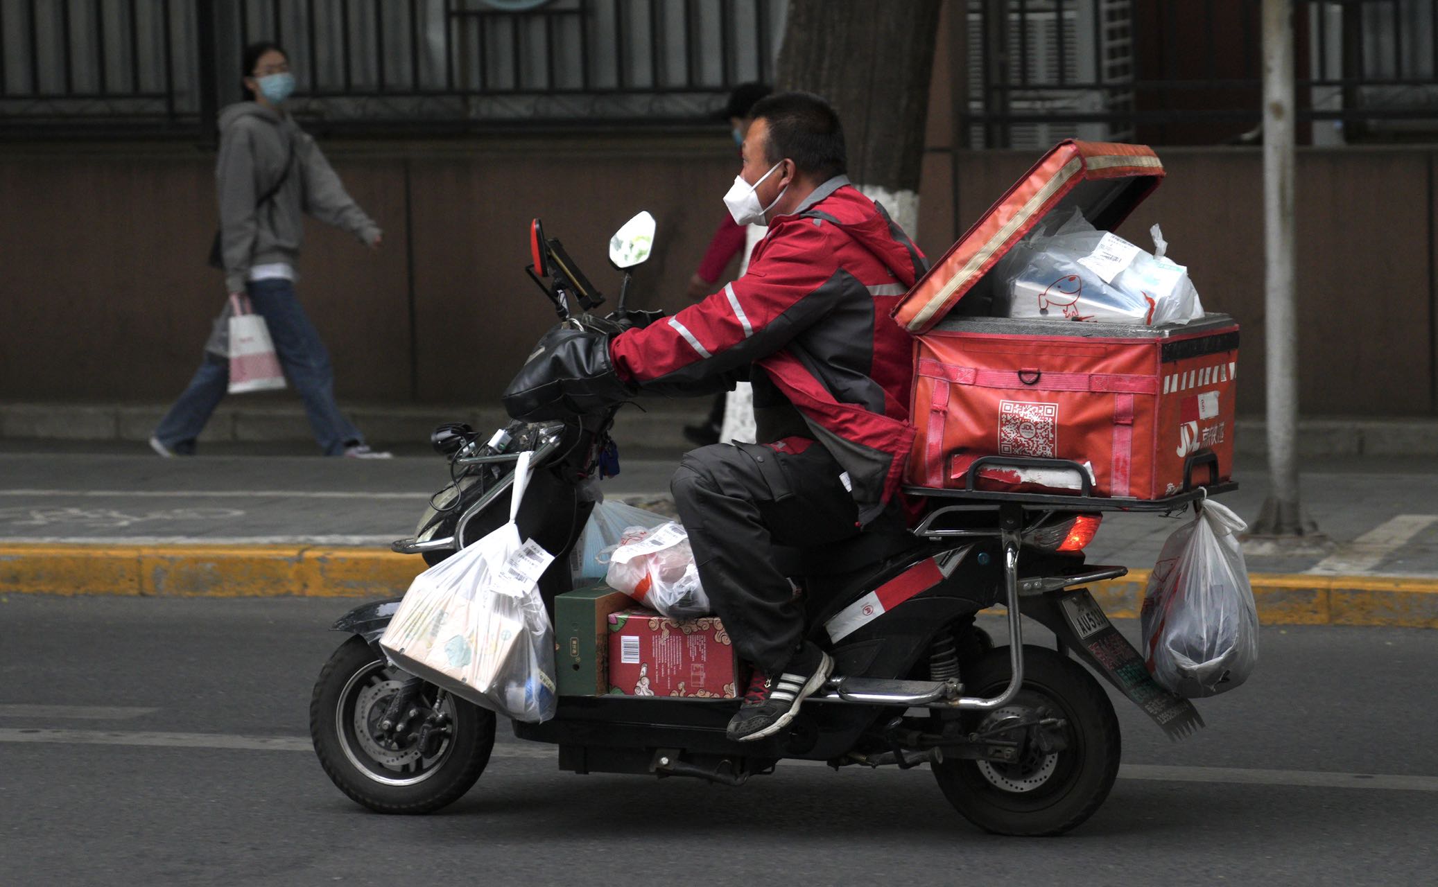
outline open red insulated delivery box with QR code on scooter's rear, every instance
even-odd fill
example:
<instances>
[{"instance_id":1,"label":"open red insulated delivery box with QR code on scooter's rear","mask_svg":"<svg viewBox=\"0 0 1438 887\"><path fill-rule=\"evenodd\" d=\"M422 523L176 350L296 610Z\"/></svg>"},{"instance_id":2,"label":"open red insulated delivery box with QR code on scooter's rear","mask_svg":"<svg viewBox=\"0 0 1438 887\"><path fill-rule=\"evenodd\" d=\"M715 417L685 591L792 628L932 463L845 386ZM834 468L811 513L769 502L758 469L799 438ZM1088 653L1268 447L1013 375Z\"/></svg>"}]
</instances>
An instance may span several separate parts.
<instances>
[{"instance_id":1,"label":"open red insulated delivery box with QR code on scooter's rear","mask_svg":"<svg viewBox=\"0 0 1438 887\"><path fill-rule=\"evenodd\" d=\"M989 272L1034 226L1078 208L1113 230L1162 177L1148 147L1061 142L905 296L894 319L916 336L910 484L1162 499L1228 480L1232 318L982 316L998 286Z\"/></svg>"}]
</instances>

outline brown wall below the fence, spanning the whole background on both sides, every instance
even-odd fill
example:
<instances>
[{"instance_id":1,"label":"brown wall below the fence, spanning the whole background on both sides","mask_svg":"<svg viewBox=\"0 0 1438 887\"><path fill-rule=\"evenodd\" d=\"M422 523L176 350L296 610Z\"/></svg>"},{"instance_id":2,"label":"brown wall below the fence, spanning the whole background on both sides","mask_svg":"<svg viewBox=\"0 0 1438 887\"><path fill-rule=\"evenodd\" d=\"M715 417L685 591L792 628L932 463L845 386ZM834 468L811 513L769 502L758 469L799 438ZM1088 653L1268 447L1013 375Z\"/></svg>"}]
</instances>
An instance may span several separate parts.
<instances>
[{"instance_id":1,"label":"brown wall below the fence, spanning the whole background on both sides","mask_svg":"<svg viewBox=\"0 0 1438 887\"><path fill-rule=\"evenodd\" d=\"M656 253L636 275L634 305L680 308L723 213L731 154L709 135L334 145L339 174L385 230L375 253L318 224L308 234L301 293L332 352L339 395L492 401L554 321L523 273L532 216L613 302L607 236L634 211L653 211ZM1163 187L1122 230L1149 246L1148 227L1162 221L1205 306L1242 322L1240 408L1261 411L1260 152L1162 157ZM942 254L955 197L966 227L1034 160L961 152L955 194L948 150L930 150L920 246ZM1434 413L1434 162L1422 148L1300 151L1304 413ZM203 265L214 224L210 164L174 147L0 152L0 398L158 403L178 392L223 299L217 272Z\"/></svg>"}]
</instances>

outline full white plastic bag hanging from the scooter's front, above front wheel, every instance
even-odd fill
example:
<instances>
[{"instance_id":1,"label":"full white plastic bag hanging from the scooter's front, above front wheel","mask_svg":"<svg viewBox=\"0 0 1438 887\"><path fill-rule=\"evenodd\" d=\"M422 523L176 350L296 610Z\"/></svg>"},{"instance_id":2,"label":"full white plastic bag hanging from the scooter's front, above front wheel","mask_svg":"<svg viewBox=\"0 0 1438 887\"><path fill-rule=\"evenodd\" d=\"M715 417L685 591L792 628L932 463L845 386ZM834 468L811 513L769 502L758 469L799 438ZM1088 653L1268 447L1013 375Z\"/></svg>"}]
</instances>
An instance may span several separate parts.
<instances>
[{"instance_id":1,"label":"full white plastic bag hanging from the scooter's front, above front wheel","mask_svg":"<svg viewBox=\"0 0 1438 887\"><path fill-rule=\"evenodd\" d=\"M515 464L509 523L414 578L380 647L406 671L515 720L554 717L554 627L539 574L554 555L521 543L515 515L531 453Z\"/></svg>"}]
</instances>

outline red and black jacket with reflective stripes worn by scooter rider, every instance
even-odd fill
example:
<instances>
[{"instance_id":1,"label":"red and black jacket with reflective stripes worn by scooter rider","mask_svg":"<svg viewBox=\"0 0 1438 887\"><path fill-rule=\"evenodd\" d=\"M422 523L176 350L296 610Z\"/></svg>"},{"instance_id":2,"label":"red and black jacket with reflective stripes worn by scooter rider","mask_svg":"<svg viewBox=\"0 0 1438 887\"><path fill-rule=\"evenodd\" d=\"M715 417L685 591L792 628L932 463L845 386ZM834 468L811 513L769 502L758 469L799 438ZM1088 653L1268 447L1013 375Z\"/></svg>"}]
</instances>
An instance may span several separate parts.
<instances>
[{"instance_id":1,"label":"red and black jacket with reflective stripes worn by scooter rider","mask_svg":"<svg viewBox=\"0 0 1438 887\"><path fill-rule=\"evenodd\" d=\"M754 382L759 443L812 437L844 467L863 522L889 502L913 443L913 342L892 318L928 263L843 175L769 223L749 272L677 315L613 339L641 392Z\"/></svg>"}]
</instances>

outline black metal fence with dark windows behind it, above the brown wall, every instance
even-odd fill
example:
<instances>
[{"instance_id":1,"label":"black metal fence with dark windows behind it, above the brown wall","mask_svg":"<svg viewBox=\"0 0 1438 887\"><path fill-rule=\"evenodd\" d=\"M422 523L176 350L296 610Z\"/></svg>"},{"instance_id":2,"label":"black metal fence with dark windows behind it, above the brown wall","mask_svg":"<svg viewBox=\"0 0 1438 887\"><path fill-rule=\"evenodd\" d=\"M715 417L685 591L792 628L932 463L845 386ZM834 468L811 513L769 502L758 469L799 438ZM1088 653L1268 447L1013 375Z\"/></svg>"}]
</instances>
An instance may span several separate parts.
<instances>
[{"instance_id":1,"label":"black metal fence with dark windows behind it, above the brown wall","mask_svg":"<svg viewBox=\"0 0 1438 887\"><path fill-rule=\"evenodd\" d=\"M894 7L902 7L894 0ZM1261 0L953 0L969 147L1252 141ZM0 134L207 134L285 45L334 131L705 119L772 81L785 0L0 0ZM1438 137L1438 0L1294 0L1300 138Z\"/></svg>"}]
</instances>

